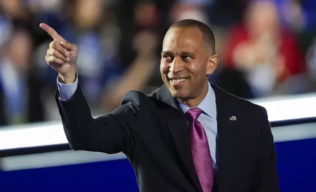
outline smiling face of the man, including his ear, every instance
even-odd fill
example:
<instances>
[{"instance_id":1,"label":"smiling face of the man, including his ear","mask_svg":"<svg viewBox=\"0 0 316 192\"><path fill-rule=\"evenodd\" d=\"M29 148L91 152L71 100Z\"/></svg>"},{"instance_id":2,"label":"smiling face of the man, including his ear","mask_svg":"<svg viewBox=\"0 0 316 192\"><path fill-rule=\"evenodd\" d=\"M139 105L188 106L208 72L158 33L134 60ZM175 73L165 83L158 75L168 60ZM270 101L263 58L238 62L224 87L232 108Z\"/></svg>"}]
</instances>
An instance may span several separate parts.
<instances>
[{"instance_id":1,"label":"smiling face of the man, including his ear","mask_svg":"<svg viewBox=\"0 0 316 192\"><path fill-rule=\"evenodd\" d=\"M218 58L203 42L197 28L169 29L163 40L160 72L171 95L179 99L199 97L208 86Z\"/></svg>"}]
</instances>

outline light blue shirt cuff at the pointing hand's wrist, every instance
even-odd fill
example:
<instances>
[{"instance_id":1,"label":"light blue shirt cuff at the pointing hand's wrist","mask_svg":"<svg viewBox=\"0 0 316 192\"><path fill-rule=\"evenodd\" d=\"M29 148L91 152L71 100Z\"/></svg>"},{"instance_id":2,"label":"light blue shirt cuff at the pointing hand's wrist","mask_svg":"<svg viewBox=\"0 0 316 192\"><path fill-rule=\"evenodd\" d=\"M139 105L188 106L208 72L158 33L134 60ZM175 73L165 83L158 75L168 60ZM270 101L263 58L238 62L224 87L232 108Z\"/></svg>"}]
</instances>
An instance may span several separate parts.
<instances>
[{"instance_id":1,"label":"light blue shirt cuff at the pointing hand's wrist","mask_svg":"<svg viewBox=\"0 0 316 192\"><path fill-rule=\"evenodd\" d=\"M76 80L70 84L63 84L59 81L59 76L57 77L57 87L59 90L59 100L68 101L74 96L78 87L78 75L76 75Z\"/></svg>"}]
</instances>

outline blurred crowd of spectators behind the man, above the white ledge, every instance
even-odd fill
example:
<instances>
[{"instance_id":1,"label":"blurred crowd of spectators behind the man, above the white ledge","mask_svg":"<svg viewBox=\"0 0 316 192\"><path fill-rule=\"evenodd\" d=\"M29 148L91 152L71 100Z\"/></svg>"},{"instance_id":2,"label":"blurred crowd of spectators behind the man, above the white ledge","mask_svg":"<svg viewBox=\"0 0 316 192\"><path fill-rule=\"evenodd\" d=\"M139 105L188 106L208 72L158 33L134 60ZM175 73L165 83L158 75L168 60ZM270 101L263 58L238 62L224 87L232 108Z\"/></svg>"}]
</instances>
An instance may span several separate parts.
<instances>
[{"instance_id":1,"label":"blurred crowd of spectators behind the man, above the white ledge","mask_svg":"<svg viewBox=\"0 0 316 192\"><path fill-rule=\"evenodd\" d=\"M77 44L79 81L100 115L129 90L163 84L162 40L182 19L213 30L220 64L210 78L226 91L246 99L316 92L316 0L0 0L0 125L60 122L57 74L45 62L52 39L40 23Z\"/></svg>"}]
</instances>

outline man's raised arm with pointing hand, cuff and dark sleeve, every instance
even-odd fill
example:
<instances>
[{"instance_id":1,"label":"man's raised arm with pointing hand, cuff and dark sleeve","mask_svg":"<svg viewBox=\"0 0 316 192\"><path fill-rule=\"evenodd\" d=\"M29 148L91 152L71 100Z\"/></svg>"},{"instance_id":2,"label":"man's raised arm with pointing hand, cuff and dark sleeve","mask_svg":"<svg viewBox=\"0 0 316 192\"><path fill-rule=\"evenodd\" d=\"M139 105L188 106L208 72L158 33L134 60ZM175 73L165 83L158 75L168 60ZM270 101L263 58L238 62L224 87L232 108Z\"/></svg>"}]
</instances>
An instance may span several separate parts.
<instances>
[{"instance_id":1,"label":"man's raised arm with pointing hand, cuff and dark sleeve","mask_svg":"<svg viewBox=\"0 0 316 192\"><path fill-rule=\"evenodd\" d=\"M53 38L46 61L59 74L55 98L70 146L74 150L129 153L135 138L131 129L136 124L137 107L129 102L110 114L92 118L76 76L77 46L49 25L40 27Z\"/></svg>"}]
</instances>

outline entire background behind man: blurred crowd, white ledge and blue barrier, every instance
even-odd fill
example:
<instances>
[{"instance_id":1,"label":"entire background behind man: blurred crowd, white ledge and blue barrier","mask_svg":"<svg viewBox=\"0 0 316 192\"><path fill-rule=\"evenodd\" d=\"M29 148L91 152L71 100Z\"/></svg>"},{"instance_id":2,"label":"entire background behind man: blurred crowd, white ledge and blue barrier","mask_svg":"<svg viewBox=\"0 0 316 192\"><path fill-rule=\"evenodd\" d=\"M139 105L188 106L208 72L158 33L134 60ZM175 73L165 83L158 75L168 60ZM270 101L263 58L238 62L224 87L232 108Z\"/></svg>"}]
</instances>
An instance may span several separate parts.
<instances>
[{"instance_id":1,"label":"entire background behind man: blurred crowd, white ledge and blue barrier","mask_svg":"<svg viewBox=\"0 0 316 192\"><path fill-rule=\"evenodd\" d=\"M0 192L138 191L124 155L53 141L62 134L57 74L45 62L52 39L39 24L78 45L79 80L100 115L129 90L162 85L161 42L181 19L212 28L220 64L210 78L221 88L254 102L316 98L315 0L0 0ZM282 192L316 192L316 99L308 102L271 123ZM7 134L51 125L52 143L24 145L44 128L34 138Z\"/></svg>"}]
</instances>

